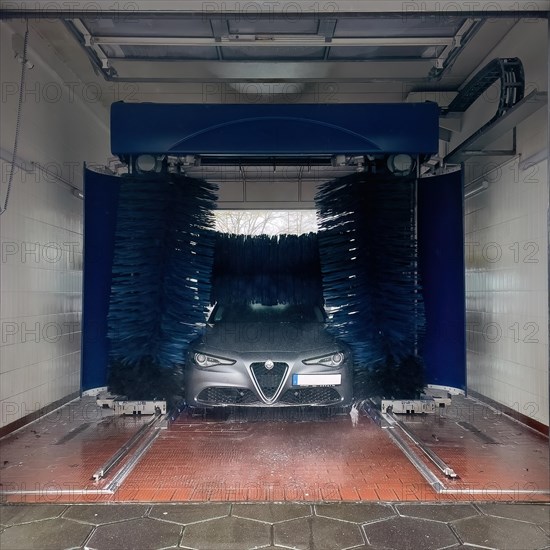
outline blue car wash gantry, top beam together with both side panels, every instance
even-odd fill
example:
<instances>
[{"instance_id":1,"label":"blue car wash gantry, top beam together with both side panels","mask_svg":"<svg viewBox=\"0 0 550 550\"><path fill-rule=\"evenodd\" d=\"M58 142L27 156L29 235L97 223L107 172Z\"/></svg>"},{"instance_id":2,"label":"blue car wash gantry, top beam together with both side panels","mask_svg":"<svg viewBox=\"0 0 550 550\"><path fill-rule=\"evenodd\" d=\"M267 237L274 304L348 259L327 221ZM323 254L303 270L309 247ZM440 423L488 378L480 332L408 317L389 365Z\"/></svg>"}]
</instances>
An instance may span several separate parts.
<instances>
[{"instance_id":1,"label":"blue car wash gantry, top beam together with both side panels","mask_svg":"<svg viewBox=\"0 0 550 550\"><path fill-rule=\"evenodd\" d=\"M212 155L227 163L256 156L300 162L334 154L428 155L438 152L438 139L435 103L111 106L111 150L126 160L139 154ZM106 381L108 289L120 178L87 170L85 180L82 387L89 389ZM427 382L464 388L462 182L459 174L420 182L419 262L425 290L433 295L427 316L435 327L426 342Z\"/></svg>"}]
</instances>

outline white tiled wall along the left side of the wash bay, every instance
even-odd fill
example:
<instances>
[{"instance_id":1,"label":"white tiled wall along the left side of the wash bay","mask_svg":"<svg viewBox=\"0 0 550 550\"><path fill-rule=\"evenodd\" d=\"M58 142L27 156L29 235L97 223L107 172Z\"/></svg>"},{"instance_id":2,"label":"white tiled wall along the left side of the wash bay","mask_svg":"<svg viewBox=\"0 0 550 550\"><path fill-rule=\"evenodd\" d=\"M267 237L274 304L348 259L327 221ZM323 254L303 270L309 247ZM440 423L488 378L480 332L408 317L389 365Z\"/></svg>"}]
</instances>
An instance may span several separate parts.
<instances>
[{"instance_id":1,"label":"white tiled wall along the left side of the wash bay","mask_svg":"<svg viewBox=\"0 0 550 550\"><path fill-rule=\"evenodd\" d=\"M12 53L13 27L0 27L0 145L9 158L21 66ZM64 82L77 79L56 73L63 66L32 31L29 46L35 66L27 72L18 149L27 171L16 169L0 216L0 427L80 389L83 202L30 162L82 188L82 162L109 156L107 112L67 94L47 100L48 86L66 92ZM9 171L0 161L2 204Z\"/></svg>"}]
</instances>

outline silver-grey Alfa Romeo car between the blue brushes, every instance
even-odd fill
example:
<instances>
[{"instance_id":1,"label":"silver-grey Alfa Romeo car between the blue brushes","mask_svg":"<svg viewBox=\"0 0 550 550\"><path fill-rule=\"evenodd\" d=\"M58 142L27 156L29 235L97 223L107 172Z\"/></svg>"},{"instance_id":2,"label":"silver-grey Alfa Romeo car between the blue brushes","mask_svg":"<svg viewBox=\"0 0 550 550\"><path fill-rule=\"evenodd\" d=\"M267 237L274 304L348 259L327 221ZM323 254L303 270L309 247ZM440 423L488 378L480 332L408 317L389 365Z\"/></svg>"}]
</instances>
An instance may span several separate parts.
<instances>
[{"instance_id":1,"label":"silver-grey Alfa Romeo car between the blue brushes","mask_svg":"<svg viewBox=\"0 0 550 550\"><path fill-rule=\"evenodd\" d=\"M217 304L191 342L190 406L340 406L352 400L349 346L314 305Z\"/></svg>"}]
</instances>

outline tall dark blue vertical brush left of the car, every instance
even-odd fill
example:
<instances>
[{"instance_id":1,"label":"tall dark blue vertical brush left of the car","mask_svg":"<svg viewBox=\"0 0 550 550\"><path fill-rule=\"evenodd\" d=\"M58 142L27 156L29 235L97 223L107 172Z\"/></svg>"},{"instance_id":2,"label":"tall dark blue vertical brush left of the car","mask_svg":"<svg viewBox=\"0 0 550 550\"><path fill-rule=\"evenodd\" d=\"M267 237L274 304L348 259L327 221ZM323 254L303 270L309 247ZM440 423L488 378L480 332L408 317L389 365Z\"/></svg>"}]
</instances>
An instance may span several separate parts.
<instances>
[{"instance_id":1,"label":"tall dark blue vertical brush left of the car","mask_svg":"<svg viewBox=\"0 0 550 550\"><path fill-rule=\"evenodd\" d=\"M181 389L210 298L214 191L181 176L121 184L108 314L114 393L170 398Z\"/></svg>"}]
</instances>

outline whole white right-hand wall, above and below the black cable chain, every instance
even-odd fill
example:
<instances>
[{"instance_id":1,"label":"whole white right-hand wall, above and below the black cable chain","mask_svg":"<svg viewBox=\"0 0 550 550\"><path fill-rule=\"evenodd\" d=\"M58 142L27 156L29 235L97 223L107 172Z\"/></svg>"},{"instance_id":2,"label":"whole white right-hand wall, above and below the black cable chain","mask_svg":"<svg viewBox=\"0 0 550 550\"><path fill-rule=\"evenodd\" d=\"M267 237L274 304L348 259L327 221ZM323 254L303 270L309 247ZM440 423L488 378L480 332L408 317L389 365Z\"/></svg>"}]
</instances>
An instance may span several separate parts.
<instances>
[{"instance_id":1,"label":"whole white right-hand wall, above and below the black cable chain","mask_svg":"<svg viewBox=\"0 0 550 550\"><path fill-rule=\"evenodd\" d=\"M527 32L529 31L529 32ZM513 29L489 58L519 55L532 89L547 89L546 23ZM487 110L494 105L486 104ZM467 384L548 425L548 109L517 128L520 156L466 166ZM536 163L525 164L535 156ZM492 158L491 162L495 159ZM477 177L476 181L472 180Z\"/></svg>"}]
</instances>

